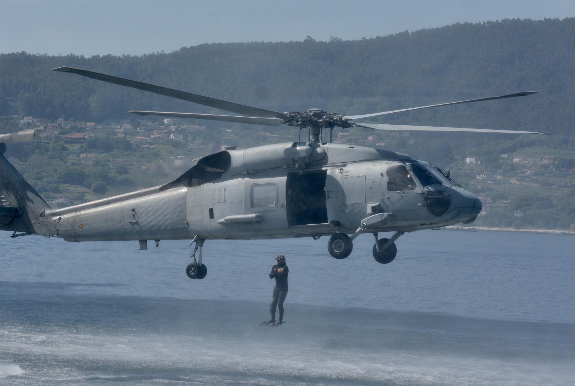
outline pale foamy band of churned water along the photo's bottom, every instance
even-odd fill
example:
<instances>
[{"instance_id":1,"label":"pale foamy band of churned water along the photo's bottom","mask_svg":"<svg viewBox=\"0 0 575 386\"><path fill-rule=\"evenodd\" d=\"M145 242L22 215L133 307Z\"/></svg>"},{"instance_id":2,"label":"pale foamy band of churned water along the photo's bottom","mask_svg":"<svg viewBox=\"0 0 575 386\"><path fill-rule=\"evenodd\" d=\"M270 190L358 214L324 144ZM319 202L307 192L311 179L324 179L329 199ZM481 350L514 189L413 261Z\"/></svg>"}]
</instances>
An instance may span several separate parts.
<instances>
[{"instance_id":1,"label":"pale foamy band of churned water along the photo's bottom","mask_svg":"<svg viewBox=\"0 0 575 386\"><path fill-rule=\"evenodd\" d=\"M118 335L61 330L36 333L19 326L1 331L1 335L0 352L38 358L37 376L53 384L90 377L113 381L118 374L165 374L166 369L179 380L194 382L203 378L215 384L257 380L255 383L262 385L563 386L572 384L573 376L566 365L533 363L526 359L326 349L274 341L202 337L201 334ZM70 368L56 373L47 366L53 362L66 363ZM3 369L8 375L24 373L14 364L0 365L0 374ZM135 383L138 381L134 379Z\"/></svg>"}]
</instances>

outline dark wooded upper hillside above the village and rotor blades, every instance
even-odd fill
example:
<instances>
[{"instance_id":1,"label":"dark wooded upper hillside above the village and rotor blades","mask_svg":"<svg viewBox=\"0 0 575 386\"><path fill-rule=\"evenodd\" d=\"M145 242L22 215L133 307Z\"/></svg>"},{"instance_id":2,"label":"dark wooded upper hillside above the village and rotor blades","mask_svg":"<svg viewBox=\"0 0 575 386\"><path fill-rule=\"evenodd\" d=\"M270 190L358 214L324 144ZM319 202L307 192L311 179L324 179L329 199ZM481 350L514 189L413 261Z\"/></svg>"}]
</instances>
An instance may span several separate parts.
<instances>
[{"instance_id":1,"label":"dark wooded upper hillside above the village and rotor blades","mask_svg":"<svg viewBox=\"0 0 575 386\"><path fill-rule=\"evenodd\" d=\"M98 120L126 110L205 111L141 91L49 72L88 68L269 109L367 113L539 91L520 101L449 107L398 121L569 133L575 19L456 24L359 41L204 44L143 56L0 55L0 115Z\"/></svg>"}]
</instances>

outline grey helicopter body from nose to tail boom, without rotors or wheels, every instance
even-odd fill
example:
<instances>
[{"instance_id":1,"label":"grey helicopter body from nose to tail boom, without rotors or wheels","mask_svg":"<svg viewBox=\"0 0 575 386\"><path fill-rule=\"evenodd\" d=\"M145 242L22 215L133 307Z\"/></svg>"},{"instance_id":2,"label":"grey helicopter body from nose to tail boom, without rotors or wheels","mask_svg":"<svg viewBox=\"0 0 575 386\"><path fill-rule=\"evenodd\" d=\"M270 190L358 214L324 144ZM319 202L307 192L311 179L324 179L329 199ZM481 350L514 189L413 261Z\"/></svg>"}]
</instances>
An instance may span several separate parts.
<instances>
[{"instance_id":1,"label":"grey helicopter body from nose to tail boom, without rotors or wheels","mask_svg":"<svg viewBox=\"0 0 575 386\"><path fill-rule=\"evenodd\" d=\"M354 233L376 214L385 215L366 232L472 221L480 200L439 173L407 155L361 146L224 150L173 183L47 211L34 226L66 241L253 240Z\"/></svg>"}]
</instances>

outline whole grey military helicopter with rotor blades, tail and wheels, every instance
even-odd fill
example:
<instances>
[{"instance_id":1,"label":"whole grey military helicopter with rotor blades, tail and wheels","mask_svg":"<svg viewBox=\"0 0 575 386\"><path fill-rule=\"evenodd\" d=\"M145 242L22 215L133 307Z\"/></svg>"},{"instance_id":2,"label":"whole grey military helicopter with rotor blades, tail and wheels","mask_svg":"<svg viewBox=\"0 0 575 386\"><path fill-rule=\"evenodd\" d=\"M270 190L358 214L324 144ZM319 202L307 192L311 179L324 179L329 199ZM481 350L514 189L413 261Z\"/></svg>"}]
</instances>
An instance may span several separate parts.
<instances>
[{"instance_id":1,"label":"whole grey military helicopter with rotor blades, tail and wheels","mask_svg":"<svg viewBox=\"0 0 575 386\"><path fill-rule=\"evenodd\" d=\"M460 103L490 101L534 94L492 96L438 105L411 107L363 115L326 113L320 109L281 113L227 102L190 92L136 82L78 68L59 67L104 82L138 88L242 115L131 111L139 115L212 119L253 125L297 126L296 142L249 149L228 147L201 157L172 182L52 209L7 161L5 143L32 140L34 130L0 136L0 230L11 237L39 234L66 241L190 240L195 243L186 267L191 279L203 279L205 240L257 240L330 236L328 251L342 259L362 233L375 239L373 257L388 264L397 254L395 241L405 232L471 223L481 212L481 200L443 171L406 154L363 146L334 144L332 129L425 130L545 134L490 129L358 123L356 119ZM308 140L301 130L308 128ZM323 131L329 129L329 142ZM378 239L378 232L393 231ZM348 236L350 235L351 236ZM199 249L198 259L196 252Z\"/></svg>"}]
</instances>

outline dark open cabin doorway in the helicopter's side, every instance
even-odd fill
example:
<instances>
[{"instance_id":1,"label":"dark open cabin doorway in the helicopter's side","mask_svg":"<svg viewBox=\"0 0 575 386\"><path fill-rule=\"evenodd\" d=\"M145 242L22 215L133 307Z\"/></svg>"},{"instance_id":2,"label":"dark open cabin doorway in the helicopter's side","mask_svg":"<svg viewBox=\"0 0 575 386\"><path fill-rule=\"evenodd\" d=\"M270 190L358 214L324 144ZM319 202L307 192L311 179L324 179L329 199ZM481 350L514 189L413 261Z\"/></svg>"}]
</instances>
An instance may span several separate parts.
<instances>
[{"instance_id":1,"label":"dark open cabin doorway in the helicopter's side","mask_svg":"<svg viewBox=\"0 0 575 386\"><path fill-rule=\"evenodd\" d=\"M325 224L325 177L327 171L289 173L286 183L289 226Z\"/></svg>"}]
</instances>

